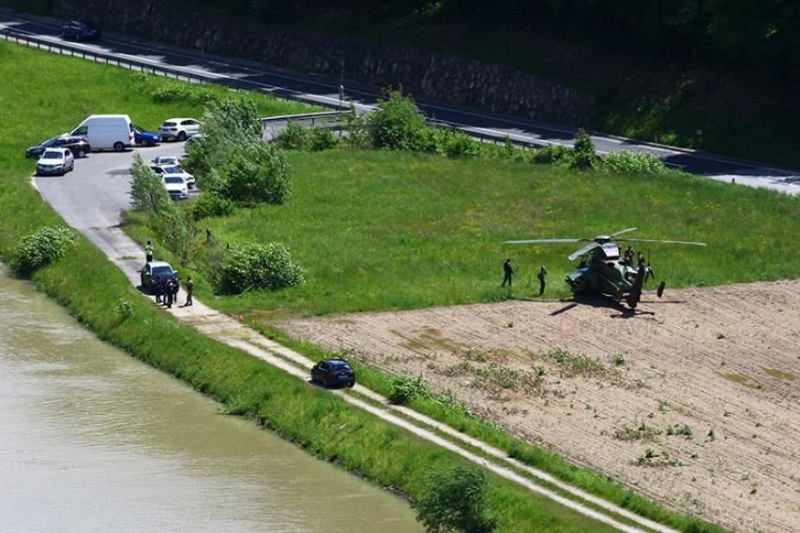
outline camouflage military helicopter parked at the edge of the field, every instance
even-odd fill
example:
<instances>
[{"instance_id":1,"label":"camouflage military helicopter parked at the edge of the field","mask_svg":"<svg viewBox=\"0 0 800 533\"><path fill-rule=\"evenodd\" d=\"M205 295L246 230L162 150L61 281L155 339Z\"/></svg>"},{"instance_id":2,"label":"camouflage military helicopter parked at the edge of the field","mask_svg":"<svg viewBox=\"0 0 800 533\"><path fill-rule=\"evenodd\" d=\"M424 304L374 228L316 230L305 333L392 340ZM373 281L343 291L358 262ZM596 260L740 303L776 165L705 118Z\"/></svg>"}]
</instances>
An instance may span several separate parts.
<instances>
[{"instance_id":1,"label":"camouflage military helicopter parked at the edge of the field","mask_svg":"<svg viewBox=\"0 0 800 533\"><path fill-rule=\"evenodd\" d=\"M505 241L504 244L555 244L588 242L568 256L570 261L581 258L578 268L567 274L564 281L575 295L603 294L614 298L616 301L624 300L628 307L635 309L642 297L642 287L645 281L653 276L650 263L645 263L644 256L640 253L634 262L633 249L628 248L620 254L620 242L646 242L663 244L686 244L690 246L705 246L702 242L666 241L654 239L631 239L618 237L636 230L627 228L610 235L597 235L593 238L578 239L528 239L521 241ZM660 298L664 292L665 283L662 281L656 293Z\"/></svg>"}]
</instances>

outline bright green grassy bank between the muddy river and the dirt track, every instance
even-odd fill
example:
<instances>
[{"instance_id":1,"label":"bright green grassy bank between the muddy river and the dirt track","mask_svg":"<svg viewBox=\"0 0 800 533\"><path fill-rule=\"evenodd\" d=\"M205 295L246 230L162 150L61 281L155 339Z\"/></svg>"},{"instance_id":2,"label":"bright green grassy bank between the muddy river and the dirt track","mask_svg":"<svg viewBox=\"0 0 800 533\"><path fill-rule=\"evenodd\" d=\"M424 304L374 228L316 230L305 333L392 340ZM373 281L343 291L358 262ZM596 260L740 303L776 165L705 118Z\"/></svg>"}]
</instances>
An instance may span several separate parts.
<instances>
[{"instance_id":1,"label":"bright green grassy bank between the muddy river and the dirt track","mask_svg":"<svg viewBox=\"0 0 800 533\"><path fill-rule=\"evenodd\" d=\"M0 43L0 123L16 125L0 130L0 255L5 260L20 237L43 225L61 223L30 186L32 163L22 157L27 144L39 135L60 131L82 114L100 112L97 109L104 105L135 117L183 114L170 105L149 101L137 91L141 87L135 80L125 79L129 73L107 67L99 70L103 72L95 65ZM50 84L54 74L73 83ZM90 91L81 90L91 111L74 112L74 117L66 110L53 113L55 106L47 102L69 101L78 81L97 88L97 100ZM42 105L31 105L32 101ZM34 124L39 133L28 131ZM413 498L431 471L464 464L460 457L352 408L334 395L181 325L142 297L82 237L65 258L37 271L33 283L101 339L191 384L221 402L225 411L254 419L315 456L335 460L381 486L393 486ZM120 301L130 306L128 318L114 311ZM490 503L502 531L609 530L527 490L492 476L489 479Z\"/></svg>"}]
</instances>

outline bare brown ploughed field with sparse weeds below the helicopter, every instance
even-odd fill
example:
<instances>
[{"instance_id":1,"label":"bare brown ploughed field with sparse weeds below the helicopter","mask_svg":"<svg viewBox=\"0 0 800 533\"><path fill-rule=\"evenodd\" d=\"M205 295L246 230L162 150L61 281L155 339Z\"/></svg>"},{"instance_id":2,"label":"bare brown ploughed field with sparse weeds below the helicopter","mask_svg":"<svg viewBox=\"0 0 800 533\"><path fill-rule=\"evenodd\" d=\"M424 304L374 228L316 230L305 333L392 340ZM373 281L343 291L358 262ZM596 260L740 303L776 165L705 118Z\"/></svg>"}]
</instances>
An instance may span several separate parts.
<instances>
[{"instance_id":1,"label":"bare brown ploughed field with sparse weeds below the helicopter","mask_svg":"<svg viewBox=\"0 0 800 533\"><path fill-rule=\"evenodd\" d=\"M513 301L293 320L516 435L740 531L800 530L800 282L670 291L635 316Z\"/></svg>"}]
</instances>

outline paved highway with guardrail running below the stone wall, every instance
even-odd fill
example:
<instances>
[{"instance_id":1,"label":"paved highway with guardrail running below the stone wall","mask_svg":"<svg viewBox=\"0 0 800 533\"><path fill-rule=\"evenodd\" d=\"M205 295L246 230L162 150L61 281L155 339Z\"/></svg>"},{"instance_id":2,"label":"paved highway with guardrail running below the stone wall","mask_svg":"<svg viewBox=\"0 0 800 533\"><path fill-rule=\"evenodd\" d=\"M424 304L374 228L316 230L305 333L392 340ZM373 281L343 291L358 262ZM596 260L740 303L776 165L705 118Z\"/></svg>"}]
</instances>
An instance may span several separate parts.
<instances>
[{"instance_id":1,"label":"paved highway with guardrail running below the stone wall","mask_svg":"<svg viewBox=\"0 0 800 533\"><path fill-rule=\"evenodd\" d=\"M200 77L236 87L274 93L287 98L317 103L325 107L347 106L352 102L359 112L374 109L378 90L349 80L297 73L277 69L232 57L202 54L196 50L144 42L135 38L104 34L96 45L65 43L60 39L61 21L24 16L0 10L0 32L36 36L45 42L57 43L81 50L91 50L136 61L139 64L169 68L192 77ZM444 103L418 101L429 118L444 121L481 137L529 144L560 144L571 146L575 137L573 128L544 124L517 117L489 113L485 110L455 107ZM667 165L707 176L726 183L769 188L789 194L800 193L800 171L782 170L752 162L682 150L669 146L643 143L610 135L593 135L592 140L600 153L619 150L644 151L657 155Z\"/></svg>"}]
</instances>

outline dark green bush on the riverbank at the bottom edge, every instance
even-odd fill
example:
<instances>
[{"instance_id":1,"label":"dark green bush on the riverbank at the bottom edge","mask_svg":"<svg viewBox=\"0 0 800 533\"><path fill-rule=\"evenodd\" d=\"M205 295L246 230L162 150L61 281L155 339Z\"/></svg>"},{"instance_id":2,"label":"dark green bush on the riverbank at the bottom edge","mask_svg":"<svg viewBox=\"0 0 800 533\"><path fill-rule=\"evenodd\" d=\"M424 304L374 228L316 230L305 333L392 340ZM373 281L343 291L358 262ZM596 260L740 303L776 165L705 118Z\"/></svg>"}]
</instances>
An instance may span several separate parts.
<instances>
[{"instance_id":1,"label":"dark green bush on the riverbank at the bottom edge","mask_svg":"<svg viewBox=\"0 0 800 533\"><path fill-rule=\"evenodd\" d=\"M486 507L486 477L476 468L434 472L428 490L412 503L428 533L492 533L497 520Z\"/></svg>"}]
</instances>

